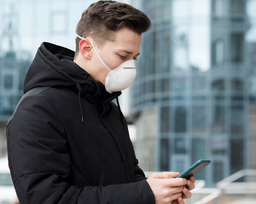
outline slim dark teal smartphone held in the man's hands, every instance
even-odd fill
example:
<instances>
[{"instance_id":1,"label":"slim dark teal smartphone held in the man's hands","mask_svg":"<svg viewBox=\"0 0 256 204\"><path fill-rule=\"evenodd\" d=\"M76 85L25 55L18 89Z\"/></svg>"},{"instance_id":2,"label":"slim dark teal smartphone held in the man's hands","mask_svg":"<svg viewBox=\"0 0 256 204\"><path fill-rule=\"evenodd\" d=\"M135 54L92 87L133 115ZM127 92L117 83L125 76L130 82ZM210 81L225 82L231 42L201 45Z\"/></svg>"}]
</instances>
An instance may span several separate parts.
<instances>
[{"instance_id":1,"label":"slim dark teal smartphone held in the man's hands","mask_svg":"<svg viewBox=\"0 0 256 204\"><path fill-rule=\"evenodd\" d=\"M197 174L199 171L204 169L207 165L211 163L208 159L200 159L195 164L191 165L188 169L183 171L177 178L186 178L189 179L191 175Z\"/></svg>"}]
</instances>

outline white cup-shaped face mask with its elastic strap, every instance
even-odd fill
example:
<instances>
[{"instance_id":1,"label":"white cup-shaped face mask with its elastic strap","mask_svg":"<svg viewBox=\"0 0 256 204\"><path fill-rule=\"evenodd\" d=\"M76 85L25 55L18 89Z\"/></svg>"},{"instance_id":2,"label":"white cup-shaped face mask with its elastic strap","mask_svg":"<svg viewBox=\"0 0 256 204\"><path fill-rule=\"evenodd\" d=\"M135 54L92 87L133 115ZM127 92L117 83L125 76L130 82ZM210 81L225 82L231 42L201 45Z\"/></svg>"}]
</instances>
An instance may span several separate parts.
<instances>
[{"instance_id":1,"label":"white cup-shaped face mask with its elastic strap","mask_svg":"<svg viewBox=\"0 0 256 204\"><path fill-rule=\"evenodd\" d=\"M77 37L85 39L79 35L77 35ZM92 44L91 41L90 43ZM136 67L134 59L125 61L115 69L111 70L103 61L103 59L101 59L101 56L99 56L99 53L97 52L93 44L92 47L101 63L109 70L109 74L106 77L105 83L105 88L107 92L111 94L112 92L122 91L128 88L136 77Z\"/></svg>"}]
</instances>

